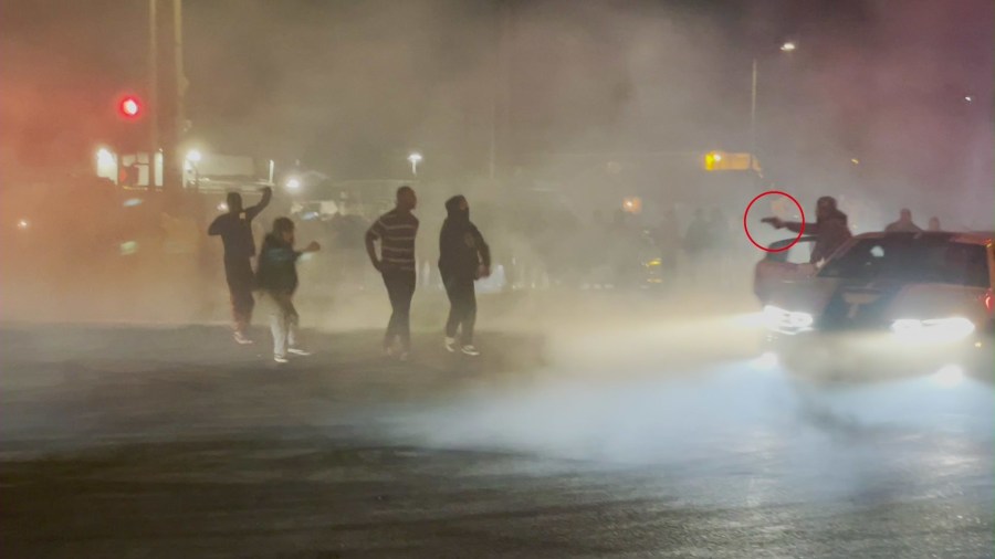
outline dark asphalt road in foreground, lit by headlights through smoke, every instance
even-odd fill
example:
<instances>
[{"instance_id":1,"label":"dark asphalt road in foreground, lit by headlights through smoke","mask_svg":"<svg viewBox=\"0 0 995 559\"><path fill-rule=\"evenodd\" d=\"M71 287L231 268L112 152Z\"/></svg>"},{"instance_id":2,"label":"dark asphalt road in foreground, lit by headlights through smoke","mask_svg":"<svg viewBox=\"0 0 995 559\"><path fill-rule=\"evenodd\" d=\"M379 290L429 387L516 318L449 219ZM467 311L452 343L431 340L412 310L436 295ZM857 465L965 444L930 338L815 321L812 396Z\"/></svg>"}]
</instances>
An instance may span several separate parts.
<instances>
[{"instance_id":1,"label":"dark asphalt road in foreground, lit by headlights through smoke","mask_svg":"<svg viewBox=\"0 0 995 559\"><path fill-rule=\"evenodd\" d=\"M993 557L989 384L815 387L653 331L405 365L312 333L279 368L220 327L7 325L0 552Z\"/></svg>"}]
</instances>

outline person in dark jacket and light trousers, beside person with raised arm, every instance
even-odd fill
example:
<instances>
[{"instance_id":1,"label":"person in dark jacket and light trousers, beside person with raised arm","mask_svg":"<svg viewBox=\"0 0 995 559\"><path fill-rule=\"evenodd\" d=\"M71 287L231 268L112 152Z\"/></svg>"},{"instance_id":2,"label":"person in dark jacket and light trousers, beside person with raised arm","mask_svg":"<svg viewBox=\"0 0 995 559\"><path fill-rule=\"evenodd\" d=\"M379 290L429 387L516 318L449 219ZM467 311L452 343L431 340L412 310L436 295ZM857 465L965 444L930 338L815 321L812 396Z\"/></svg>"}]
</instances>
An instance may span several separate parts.
<instances>
[{"instance_id":1,"label":"person in dark jacket and light trousers, beside person with raised arm","mask_svg":"<svg viewBox=\"0 0 995 559\"><path fill-rule=\"evenodd\" d=\"M310 355L297 346L300 317L293 297L297 291L297 259L305 252L317 252L320 249L318 243L312 241L303 251L295 251L294 222L289 218L276 218L273 231L263 240L259 251L256 285L271 306L273 359L279 363L287 361L287 352Z\"/></svg>"}]
</instances>

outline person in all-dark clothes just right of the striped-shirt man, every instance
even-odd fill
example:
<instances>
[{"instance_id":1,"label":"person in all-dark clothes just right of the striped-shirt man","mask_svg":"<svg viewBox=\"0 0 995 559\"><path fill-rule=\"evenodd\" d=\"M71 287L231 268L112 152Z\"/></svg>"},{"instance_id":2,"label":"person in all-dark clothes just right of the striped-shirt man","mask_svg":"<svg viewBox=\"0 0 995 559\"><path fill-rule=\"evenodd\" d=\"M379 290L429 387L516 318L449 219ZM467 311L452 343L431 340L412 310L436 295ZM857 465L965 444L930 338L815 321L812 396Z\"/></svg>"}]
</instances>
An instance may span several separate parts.
<instances>
[{"instance_id":1,"label":"person in all-dark clothes just right of the striped-shirt man","mask_svg":"<svg viewBox=\"0 0 995 559\"><path fill-rule=\"evenodd\" d=\"M476 323L476 293L473 282L491 275L491 250L470 221L470 204L462 196L446 201L449 217L439 233L439 274L449 296L446 321L446 349L479 356L473 346ZM457 330L460 331L459 344Z\"/></svg>"}]
</instances>

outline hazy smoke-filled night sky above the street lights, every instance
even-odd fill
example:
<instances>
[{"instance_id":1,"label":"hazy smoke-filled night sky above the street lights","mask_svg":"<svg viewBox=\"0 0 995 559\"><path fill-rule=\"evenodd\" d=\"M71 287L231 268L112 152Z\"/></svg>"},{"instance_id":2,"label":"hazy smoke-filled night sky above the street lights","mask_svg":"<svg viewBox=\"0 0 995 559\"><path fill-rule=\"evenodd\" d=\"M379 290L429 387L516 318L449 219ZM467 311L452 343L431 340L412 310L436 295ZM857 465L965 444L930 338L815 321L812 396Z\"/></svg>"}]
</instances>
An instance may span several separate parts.
<instances>
[{"instance_id":1,"label":"hazy smoke-filled night sky above the street lights","mask_svg":"<svg viewBox=\"0 0 995 559\"><path fill-rule=\"evenodd\" d=\"M3 3L4 167L44 161L40 145L91 149L108 99L143 86L146 6ZM485 171L495 106L506 168L744 149L757 57L760 151L784 177L858 158L849 176L883 191L992 189L987 0L187 0L185 13L189 139L217 151L368 178L420 149L469 177Z\"/></svg>"}]
</instances>

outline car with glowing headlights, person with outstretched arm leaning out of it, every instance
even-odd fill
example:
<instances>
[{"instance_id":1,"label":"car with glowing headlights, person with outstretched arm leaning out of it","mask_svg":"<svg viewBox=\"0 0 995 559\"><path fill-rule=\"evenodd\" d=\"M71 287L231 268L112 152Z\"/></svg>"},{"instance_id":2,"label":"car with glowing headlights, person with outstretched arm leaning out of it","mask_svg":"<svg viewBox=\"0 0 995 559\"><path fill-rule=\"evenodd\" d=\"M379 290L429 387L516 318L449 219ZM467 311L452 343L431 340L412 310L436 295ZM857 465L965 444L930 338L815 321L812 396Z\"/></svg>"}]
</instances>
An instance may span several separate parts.
<instances>
[{"instance_id":1,"label":"car with glowing headlights, person with outstretched arm leaning out of it","mask_svg":"<svg viewBox=\"0 0 995 559\"><path fill-rule=\"evenodd\" d=\"M991 233L867 233L820 268L757 265L768 349L831 378L971 371L992 378ZM776 253L775 253L776 254Z\"/></svg>"}]
</instances>

